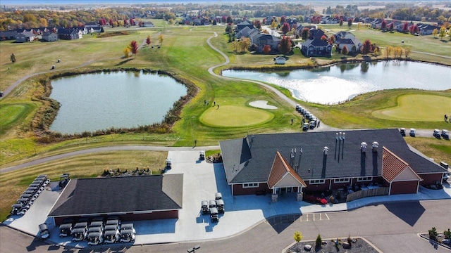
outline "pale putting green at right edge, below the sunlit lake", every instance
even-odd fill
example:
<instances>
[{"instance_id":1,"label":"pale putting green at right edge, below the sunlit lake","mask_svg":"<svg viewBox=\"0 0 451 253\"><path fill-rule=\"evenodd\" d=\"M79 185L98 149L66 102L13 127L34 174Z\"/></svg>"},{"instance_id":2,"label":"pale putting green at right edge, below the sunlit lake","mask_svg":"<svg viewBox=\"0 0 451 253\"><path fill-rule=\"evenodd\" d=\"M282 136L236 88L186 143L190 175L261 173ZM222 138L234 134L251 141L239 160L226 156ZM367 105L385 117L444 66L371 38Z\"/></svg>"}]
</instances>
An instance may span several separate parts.
<instances>
[{"instance_id":1,"label":"pale putting green at right edge, below the sunlit lake","mask_svg":"<svg viewBox=\"0 0 451 253\"><path fill-rule=\"evenodd\" d=\"M409 94L398 97L397 103L394 108L374 111L373 116L401 121L440 122L445 114L451 114L451 98L447 96Z\"/></svg>"}]
</instances>

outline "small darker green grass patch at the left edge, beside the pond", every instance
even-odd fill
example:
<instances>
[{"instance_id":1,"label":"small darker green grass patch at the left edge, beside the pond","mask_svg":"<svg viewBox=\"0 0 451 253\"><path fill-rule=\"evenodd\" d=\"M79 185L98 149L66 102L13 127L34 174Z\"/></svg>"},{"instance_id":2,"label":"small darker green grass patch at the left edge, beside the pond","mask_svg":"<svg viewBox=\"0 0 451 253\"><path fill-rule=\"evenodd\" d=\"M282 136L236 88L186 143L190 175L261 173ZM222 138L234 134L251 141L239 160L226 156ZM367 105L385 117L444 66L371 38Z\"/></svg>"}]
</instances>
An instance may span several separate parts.
<instances>
[{"instance_id":1,"label":"small darker green grass patch at the left edge, beside the pond","mask_svg":"<svg viewBox=\"0 0 451 253\"><path fill-rule=\"evenodd\" d=\"M0 134L25 119L34 109L35 106L28 103L0 105Z\"/></svg>"}]
</instances>

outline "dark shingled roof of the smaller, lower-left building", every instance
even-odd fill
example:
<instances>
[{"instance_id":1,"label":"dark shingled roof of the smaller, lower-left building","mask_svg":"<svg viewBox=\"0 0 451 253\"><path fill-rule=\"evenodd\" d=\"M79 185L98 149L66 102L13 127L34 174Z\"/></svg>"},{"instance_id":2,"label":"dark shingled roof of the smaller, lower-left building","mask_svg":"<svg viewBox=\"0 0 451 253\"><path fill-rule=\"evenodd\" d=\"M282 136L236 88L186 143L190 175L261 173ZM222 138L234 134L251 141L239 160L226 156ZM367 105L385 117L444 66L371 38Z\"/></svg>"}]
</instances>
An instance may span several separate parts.
<instances>
[{"instance_id":1,"label":"dark shingled roof of the smaller, lower-left building","mask_svg":"<svg viewBox=\"0 0 451 253\"><path fill-rule=\"evenodd\" d=\"M71 179L49 216L182 208L183 174Z\"/></svg>"}]
</instances>

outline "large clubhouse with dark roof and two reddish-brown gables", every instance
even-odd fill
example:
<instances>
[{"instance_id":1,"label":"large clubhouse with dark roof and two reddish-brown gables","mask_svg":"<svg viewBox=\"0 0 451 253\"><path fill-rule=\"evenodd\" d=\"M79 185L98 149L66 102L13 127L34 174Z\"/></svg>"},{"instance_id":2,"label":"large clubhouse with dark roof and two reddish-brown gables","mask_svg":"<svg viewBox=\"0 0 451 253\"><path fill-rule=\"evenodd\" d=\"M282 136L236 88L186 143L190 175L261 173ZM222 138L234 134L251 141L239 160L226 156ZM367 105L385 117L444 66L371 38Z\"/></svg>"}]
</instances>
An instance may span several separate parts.
<instances>
[{"instance_id":1,"label":"large clubhouse with dark roof and two reddish-brown gables","mask_svg":"<svg viewBox=\"0 0 451 253\"><path fill-rule=\"evenodd\" d=\"M388 195L417 193L447 172L407 145L398 129L255 134L219 145L232 195L364 185L386 187Z\"/></svg>"}]
</instances>

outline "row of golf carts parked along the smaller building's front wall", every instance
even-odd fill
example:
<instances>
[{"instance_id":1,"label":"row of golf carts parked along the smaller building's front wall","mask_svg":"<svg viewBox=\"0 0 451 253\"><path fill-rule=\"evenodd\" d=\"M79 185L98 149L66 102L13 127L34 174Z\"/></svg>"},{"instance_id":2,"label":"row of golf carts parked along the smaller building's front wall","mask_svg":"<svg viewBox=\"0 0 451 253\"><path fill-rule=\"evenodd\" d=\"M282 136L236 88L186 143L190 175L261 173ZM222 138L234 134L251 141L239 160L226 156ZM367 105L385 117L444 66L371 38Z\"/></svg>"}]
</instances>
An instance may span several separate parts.
<instances>
[{"instance_id":1,"label":"row of golf carts parked along the smaller building's front wall","mask_svg":"<svg viewBox=\"0 0 451 253\"><path fill-rule=\"evenodd\" d=\"M77 221L66 219L59 231L61 238L72 236L73 242L85 240L88 245L134 242L136 235L133 223L121 223L118 216L81 217Z\"/></svg>"}]
</instances>

